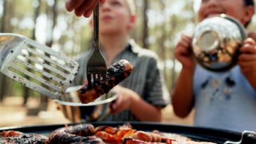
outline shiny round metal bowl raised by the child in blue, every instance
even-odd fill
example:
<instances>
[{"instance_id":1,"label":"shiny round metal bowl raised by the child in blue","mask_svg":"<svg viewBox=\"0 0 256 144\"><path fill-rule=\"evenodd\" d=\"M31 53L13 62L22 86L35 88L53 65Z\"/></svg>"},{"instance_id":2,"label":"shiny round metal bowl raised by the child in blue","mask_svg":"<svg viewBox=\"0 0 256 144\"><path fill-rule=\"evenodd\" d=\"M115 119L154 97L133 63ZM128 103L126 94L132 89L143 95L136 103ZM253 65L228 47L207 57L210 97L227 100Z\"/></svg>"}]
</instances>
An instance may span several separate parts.
<instances>
[{"instance_id":1,"label":"shiny round metal bowl raised by the child in blue","mask_svg":"<svg viewBox=\"0 0 256 144\"><path fill-rule=\"evenodd\" d=\"M245 27L229 15L212 15L196 25L192 39L193 58L213 72L236 65L238 48L247 38Z\"/></svg>"}]
</instances>

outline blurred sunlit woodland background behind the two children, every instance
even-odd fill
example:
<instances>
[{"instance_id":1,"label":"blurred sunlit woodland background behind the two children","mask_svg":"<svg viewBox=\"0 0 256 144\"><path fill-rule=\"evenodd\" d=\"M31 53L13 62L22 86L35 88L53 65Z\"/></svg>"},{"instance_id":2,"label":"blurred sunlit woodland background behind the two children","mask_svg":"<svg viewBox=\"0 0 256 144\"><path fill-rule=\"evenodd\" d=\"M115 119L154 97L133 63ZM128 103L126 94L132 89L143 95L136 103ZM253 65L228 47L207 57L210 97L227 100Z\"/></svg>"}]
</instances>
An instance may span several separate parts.
<instances>
[{"instance_id":1,"label":"blurred sunlit woodland background behind the two children","mask_svg":"<svg viewBox=\"0 0 256 144\"><path fill-rule=\"evenodd\" d=\"M74 13L67 12L65 1L0 0L0 32L24 35L75 59L89 49L90 19L77 18ZM181 34L193 34L200 0L134 1L137 20L130 38L159 55L159 67L171 92L182 67L174 58L173 50ZM255 27L256 15L248 31L256 30ZM70 122L56 109L53 100L1 73L0 117L0 127ZM193 124L193 112L186 119L179 119L173 114L172 105L168 105L162 110L162 122Z\"/></svg>"}]
</instances>

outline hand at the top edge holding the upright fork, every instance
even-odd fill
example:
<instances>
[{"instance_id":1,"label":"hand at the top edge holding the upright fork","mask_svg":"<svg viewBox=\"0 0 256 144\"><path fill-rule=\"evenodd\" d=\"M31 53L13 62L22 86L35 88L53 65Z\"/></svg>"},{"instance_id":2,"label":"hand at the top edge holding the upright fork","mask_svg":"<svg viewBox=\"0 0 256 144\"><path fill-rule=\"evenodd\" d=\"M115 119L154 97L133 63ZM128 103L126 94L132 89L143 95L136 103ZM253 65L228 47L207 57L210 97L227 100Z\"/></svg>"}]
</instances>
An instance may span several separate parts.
<instances>
[{"instance_id":1,"label":"hand at the top edge holding the upright fork","mask_svg":"<svg viewBox=\"0 0 256 144\"><path fill-rule=\"evenodd\" d=\"M105 0L68 0L66 2L67 11L71 12L75 9L75 15L89 18L98 1L103 4Z\"/></svg>"}]
</instances>

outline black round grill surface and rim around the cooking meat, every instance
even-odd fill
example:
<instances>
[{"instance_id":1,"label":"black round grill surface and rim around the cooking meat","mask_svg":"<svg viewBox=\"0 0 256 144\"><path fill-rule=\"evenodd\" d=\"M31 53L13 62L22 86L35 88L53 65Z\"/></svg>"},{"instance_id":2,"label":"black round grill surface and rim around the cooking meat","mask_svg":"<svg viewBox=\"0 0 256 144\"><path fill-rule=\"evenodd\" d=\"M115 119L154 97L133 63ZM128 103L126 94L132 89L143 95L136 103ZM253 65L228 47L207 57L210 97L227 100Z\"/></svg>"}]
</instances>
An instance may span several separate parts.
<instances>
[{"instance_id":1,"label":"black round grill surface and rim around the cooking meat","mask_svg":"<svg viewBox=\"0 0 256 144\"><path fill-rule=\"evenodd\" d=\"M88 122L88 124L93 124L94 126L119 126L125 122ZM139 131L153 131L158 130L160 132L166 133L177 133L182 136L187 136L195 141L207 141L213 143L224 144L227 140L238 142L241 140L241 133L226 131L220 129L208 129L204 127L197 126L184 126L178 124L165 124L165 123L154 123L154 122L129 122L136 130ZM77 123L68 124L75 125ZM64 127L64 124L55 125L39 125L39 126L10 126L0 128L1 131L22 131L24 133L37 133L44 136L50 136L51 132L60 127ZM250 144L256 143L255 136L245 135L243 138L243 143Z\"/></svg>"}]
</instances>

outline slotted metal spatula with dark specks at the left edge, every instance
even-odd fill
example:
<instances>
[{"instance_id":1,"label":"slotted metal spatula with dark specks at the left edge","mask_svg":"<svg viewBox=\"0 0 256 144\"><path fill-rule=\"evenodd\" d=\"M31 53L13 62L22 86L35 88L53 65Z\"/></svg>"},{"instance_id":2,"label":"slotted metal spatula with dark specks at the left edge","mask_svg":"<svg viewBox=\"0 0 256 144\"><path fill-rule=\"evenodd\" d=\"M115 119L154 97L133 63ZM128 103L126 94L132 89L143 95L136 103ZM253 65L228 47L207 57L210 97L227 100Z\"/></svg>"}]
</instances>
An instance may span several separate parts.
<instances>
[{"instance_id":1,"label":"slotted metal spatula with dark specks at the left edge","mask_svg":"<svg viewBox=\"0 0 256 144\"><path fill-rule=\"evenodd\" d=\"M0 72L49 98L56 99L65 93L78 66L75 60L32 39L0 34Z\"/></svg>"}]
</instances>

